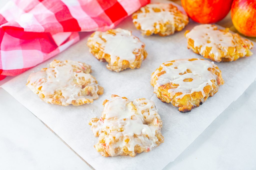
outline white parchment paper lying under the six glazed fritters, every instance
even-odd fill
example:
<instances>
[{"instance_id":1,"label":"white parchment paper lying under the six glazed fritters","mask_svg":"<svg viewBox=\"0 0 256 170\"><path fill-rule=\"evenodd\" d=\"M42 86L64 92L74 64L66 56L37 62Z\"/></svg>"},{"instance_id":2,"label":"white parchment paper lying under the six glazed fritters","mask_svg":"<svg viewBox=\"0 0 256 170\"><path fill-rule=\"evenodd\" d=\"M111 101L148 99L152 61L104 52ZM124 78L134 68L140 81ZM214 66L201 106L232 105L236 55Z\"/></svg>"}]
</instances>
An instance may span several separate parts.
<instances>
[{"instance_id":1,"label":"white parchment paper lying under the six glazed fritters","mask_svg":"<svg viewBox=\"0 0 256 170\"><path fill-rule=\"evenodd\" d=\"M222 71L225 84L220 86L214 97L210 97L200 107L189 113L180 113L170 103L162 103L153 94L150 85L151 73L165 61L180 58L202 58L187 49L186 30L192 29L197 23L190 21L187 27L174 35L160 37L158 35L143 37L133 26L131 17L125 19L118 27L132 30L133 34L146 44L148 56L140 69L127 69L120 73L106 69L106 63L99 62L89 53L86 45L90 33L82 33L84 38L58 56L15 77L2 87L22 103L28 110L44 122L80 157L95 169L162 169L170 161L185 150L212 121L236 100L246 88L255 81L256 48L251 57L244 57L234 62L216 63ZM104 94L93 104L82 106L56 106L47 104L25 86L28 75L48 67L53 60L77 60L92 66L92 75L99 85L104 87ZM102 102L110 99L111 94L125 96L130 100L147 98L155 102L159 115L163 120L162 134L164 143L148 153L141 153L131 158L116 156L105 158L93 147L97 142L89 120L100 116ZM14 106L15 107L15 106ZM17 113L22 114L22 113ZM241 113L242 114L242 113Z\"/></svg>"}]
</instances>

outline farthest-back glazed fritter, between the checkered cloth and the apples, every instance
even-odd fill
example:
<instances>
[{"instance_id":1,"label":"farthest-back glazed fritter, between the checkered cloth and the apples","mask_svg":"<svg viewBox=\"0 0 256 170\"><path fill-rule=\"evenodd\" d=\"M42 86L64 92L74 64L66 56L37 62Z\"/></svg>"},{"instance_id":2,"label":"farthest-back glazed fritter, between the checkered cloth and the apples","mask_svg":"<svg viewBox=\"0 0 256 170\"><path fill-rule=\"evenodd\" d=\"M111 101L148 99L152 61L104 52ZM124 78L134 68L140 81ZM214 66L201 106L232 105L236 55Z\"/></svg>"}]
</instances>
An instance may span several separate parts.
<instances>
[{"instance_id":1,"label":"farthest-back glazed fritter, between the checkered cloth and the apples","mask_svg":"<svg viewBox=\"0 0 256 170\"><path fill-rule=\"evenodd\" d=\"M181 31L188 24L188 16L172 4L148 4L132 15L133 23L142 35L167 36Z\"/></svg>"}]
</instances>

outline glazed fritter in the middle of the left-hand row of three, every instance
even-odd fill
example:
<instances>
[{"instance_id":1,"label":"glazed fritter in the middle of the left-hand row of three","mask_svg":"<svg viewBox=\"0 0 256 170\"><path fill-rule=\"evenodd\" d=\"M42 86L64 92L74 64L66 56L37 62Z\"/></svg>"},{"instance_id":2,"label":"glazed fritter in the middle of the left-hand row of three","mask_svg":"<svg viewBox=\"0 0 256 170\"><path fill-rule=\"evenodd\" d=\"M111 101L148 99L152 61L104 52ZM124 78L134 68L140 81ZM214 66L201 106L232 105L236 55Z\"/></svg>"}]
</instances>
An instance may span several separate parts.
<instances>
[{"instance_id":1,"label":"glazed fritter in the middle of the left-hand row of three","mask_svg":"<svg viewBox=\"0 0 256 170\"><path fill-rule=\"evenodd\" d=\"M131 31L121 28L96 31L89 38L89 51L100 61L108 62L107 69L120 72L127 68L140 68L147 57L145 44Z\"/></svg>"}]
</instances>

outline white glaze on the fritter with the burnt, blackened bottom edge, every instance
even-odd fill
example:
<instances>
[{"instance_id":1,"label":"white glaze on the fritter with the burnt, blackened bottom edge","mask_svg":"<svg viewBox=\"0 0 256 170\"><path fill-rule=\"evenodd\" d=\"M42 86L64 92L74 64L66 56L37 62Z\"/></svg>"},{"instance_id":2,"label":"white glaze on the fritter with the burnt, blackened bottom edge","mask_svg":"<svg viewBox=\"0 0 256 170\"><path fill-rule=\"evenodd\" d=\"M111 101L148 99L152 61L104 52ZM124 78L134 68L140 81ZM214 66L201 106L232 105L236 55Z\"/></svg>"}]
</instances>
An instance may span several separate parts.
<instances>
[{"instance_id":1,"label":"white glaze on the fritter with the burnt, blackened bottom edge","mask_svg":"<svg viewBox=\"0 0 256 170\"><path fill-rule=\"evenodd\" d=\"M173 64L171 66L165 66L169 63ZM173 96L178 92L181 92L182 94L176 96L176 99L182 99L187 94L192 94L199 91L201 91L203 97L205 97L204 87L207 85L211 86L211 80L217 81L217 75L208 71L208 68L214 68L217 66L214 64L214 62L210 62L207 60L197 59L193 61L188 61L188 59L179 59L175 60L175 62L167 61L163 63L161 67L163 67L163 69L161 71L156 70L152 75L152 78L157 76L159 72L165 71L166 73L158 77L157 83L154 86L154 91L157 91L158 87L167 83L179 84L177 88L168 89L168 93L170 93L170 98L173 98ZM189 69L191 73L183 74L187 72L187 69ZM182 73L183 75L180 75L180 73ZM189 78L193 79L193 81L183 81L184 79Z\"/></svg>"}]
</instances>

